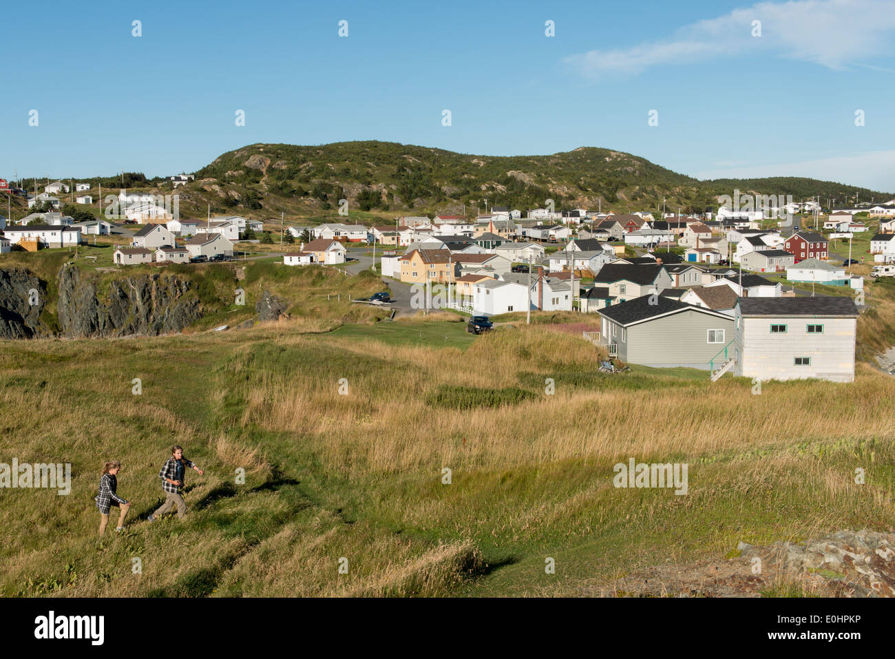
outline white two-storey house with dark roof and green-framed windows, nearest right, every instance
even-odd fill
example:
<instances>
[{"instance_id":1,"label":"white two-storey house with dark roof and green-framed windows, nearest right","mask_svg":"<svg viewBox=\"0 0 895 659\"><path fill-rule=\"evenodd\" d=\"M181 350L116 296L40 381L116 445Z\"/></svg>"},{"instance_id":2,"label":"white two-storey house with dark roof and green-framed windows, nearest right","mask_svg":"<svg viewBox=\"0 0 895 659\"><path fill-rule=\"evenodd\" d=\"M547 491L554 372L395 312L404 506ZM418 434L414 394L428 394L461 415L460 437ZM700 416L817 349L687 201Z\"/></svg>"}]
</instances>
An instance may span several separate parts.
<instances>
[{"instance_id":1,"label":"white two-storey house with dark roof and green-framed windows, nearest right","mask_svg":"<svg viewBox=\"0 0 895 659\"><path fill-rule=\"evenodd\" d=\"M734 319L735 375L855 380L857 306L850 297L743 297Z\"/></svg>"}]
</instances>

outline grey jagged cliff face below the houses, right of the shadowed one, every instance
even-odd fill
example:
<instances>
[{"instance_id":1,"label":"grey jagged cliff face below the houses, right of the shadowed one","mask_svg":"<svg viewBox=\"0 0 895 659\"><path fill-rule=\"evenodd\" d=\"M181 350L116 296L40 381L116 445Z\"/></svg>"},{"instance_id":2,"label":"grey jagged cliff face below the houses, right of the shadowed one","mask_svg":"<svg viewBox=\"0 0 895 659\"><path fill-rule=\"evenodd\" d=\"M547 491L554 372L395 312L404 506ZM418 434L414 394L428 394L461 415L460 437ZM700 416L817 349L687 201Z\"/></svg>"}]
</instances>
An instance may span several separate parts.
<instances>
[{"instance_id":1,"label":"grey jagged cliff face below the houses, right of the shadowed one","mask_svg":"<svg viewBox=\"0 0 895 659\"><path fill-rule=\"evenodd\" d=\"M179 332L202 315L199 300L186 297L190 284L170 275L136 275L115 279L100 300L94 281L81 271L59 270L59 328L64 336L123 337Z\"/></svg>"}]
</instances>

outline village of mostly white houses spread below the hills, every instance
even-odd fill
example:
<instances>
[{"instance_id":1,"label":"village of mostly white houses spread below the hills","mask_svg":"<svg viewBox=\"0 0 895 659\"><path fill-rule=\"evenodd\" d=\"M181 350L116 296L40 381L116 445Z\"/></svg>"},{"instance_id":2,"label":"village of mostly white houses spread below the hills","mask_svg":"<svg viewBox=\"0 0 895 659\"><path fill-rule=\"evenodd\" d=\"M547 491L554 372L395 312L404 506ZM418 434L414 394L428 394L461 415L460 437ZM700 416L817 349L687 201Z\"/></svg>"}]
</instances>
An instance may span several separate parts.
<instances>
[{"instance_id":1,"label":"village of mostly white houses spread below the hills","mask_svg":"<svg viewBox=\"0 0 895 659\"><path fill-rule=\"evenodd\" d=\"M190 177L171 180L176 188ZM76 201L92 203L90 184L75 190L83 193ZM118 236L115 267L239 258L369 268L388 290L357 302L391 309L392 318L449 309L484 319L470 321L479 333L493 327L488 319L514 312L580 312L594 326L584 338L610 359L702 369L712 381L726 372L853 381L865 285L895 277L895 200L825 211L814 200L720 206L700 216L541 208L523 218L494 206L474 218L405 216L368 226L210 210L187 220L152 193L125 190L117 196L123 222L75 221L54 210L54 195L69 192L48 183L29 205L50 210L0 220L0 250L77 250ZM272 235L276 251L257 252L259 235Z\"/></svg>"}]
</instances>

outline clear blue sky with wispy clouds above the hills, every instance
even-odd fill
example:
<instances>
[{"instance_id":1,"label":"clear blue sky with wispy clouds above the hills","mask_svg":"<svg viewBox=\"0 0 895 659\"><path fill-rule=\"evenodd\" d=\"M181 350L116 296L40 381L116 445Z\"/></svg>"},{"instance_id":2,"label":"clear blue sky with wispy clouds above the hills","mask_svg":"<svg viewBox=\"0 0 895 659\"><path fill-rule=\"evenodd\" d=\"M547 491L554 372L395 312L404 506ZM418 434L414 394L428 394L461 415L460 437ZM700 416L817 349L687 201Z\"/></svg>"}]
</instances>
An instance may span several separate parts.
<instances>
[{"instance_id":1,"label":"clear blue sky with wispy clouds above the hills","mask_svg":"<svg viewBox=\"0 0 895 659\"><path fill-rule=\"evenodd\" d=\"M599 146L700 178L895 191L895 0L123 5L37 3L0 24L0 176L172 175L255 142L383 140Z\"/></svg>"}]
</instances>

